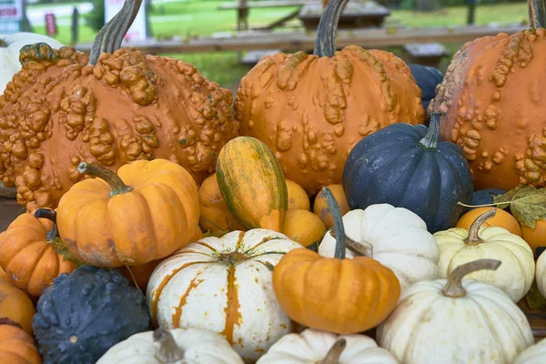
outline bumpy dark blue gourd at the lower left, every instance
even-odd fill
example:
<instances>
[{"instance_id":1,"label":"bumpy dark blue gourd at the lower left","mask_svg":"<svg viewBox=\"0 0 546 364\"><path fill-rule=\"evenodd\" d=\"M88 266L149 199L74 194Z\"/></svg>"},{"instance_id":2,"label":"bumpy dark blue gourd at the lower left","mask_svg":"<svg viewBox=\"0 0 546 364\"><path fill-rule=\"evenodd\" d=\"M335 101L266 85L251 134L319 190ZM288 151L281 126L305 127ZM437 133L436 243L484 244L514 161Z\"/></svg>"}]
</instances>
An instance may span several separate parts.
<instances>
[{"instance_id":1,"label":"bumpy dark blue gourd at the lower left","mask_svg":"<svg viewBox=\"0 0 546 364\"><path fill-rule=\"evenodd\" d=\"M95 364L150 318L144 295L117 269L91 266L62 274L38 299L33 320L44 364Z\"/></svg>"}]
</instances>

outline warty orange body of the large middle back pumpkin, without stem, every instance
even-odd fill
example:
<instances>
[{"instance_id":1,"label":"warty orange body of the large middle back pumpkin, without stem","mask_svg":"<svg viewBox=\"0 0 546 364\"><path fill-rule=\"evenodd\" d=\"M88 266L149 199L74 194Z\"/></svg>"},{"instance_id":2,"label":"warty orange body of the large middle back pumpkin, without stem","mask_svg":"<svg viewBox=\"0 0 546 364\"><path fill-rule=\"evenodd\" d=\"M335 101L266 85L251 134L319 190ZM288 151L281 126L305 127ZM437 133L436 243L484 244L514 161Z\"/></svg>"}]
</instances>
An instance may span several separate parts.
<instances>
[{"instance_id":1,"label":"warty orange body of the large middle back pumpkin, without stem","mask_svg":"<svg viewBox=\"0 0 546 364\"><path fill-rule=\"evenodd\" d=\"M278 158L285 177L309 195L341 182L349 151L400 121L424 122L410 68L384 51L349 45L335 56L266 56L243 77L234 104L241 135Z\"/></svg>"}]
</instances>

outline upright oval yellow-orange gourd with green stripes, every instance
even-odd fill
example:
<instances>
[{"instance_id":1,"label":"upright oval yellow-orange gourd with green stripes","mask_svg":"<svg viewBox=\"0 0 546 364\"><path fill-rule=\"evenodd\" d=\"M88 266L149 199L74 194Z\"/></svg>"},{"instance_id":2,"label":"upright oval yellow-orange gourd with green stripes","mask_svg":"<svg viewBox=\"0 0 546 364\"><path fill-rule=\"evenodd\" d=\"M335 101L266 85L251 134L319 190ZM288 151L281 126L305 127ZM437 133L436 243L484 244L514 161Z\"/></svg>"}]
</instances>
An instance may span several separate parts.
<instances>
[{"instance_id":1,"label":"upright oval yellow-orange gourd with green stripes","mask_svg":"<svg viewBox=\"0 0 546 364\"><path fill-rule=\"evenodd\" d=\"M287 183L265 143L250 136L227 142L217 159L217 181L241 225L281 231L288 210Z\"/></svg>"}]
</instances>

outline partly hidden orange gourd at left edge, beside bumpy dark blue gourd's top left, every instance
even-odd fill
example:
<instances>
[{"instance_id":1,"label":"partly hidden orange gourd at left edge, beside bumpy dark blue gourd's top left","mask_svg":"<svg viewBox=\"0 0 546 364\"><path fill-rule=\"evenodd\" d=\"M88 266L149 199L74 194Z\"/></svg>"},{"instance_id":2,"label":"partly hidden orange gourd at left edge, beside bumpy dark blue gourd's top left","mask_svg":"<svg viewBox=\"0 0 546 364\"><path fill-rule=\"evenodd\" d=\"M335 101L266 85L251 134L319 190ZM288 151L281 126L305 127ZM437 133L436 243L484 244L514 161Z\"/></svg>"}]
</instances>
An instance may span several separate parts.
<instances>
[{"instance_id":1,"label":"partly hidden orange gourd at left edge, beside bumpy dark blue gourd's top left","mask_svg":"<svg viewBox=\"0 0 546 364\"><path fill-rule=\"evenodd\" d=\"M11 283L0 281L0 319L11 319L32 335L35 313L35 307L25 292Z\"/></svg>"}]
</instances>

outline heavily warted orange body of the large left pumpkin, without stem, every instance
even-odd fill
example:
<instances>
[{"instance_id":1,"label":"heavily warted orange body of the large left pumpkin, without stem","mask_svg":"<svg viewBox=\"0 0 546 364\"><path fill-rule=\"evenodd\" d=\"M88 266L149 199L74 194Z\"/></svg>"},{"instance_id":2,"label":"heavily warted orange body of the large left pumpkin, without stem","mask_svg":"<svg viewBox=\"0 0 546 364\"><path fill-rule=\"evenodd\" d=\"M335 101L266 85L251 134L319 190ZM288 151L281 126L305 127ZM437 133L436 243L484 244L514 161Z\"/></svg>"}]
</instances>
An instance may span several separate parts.
<instances>
[{"instance_id":1,"label":"heavily warted orange body of the large left pumpkin, without stem","mask_svg":"<svg viewBox=\"0 0 546 364\"><path fill-rule=\"evenodd\" d=\"M0 97L0 180L29 211L56 207L82 178L81 161L116 171L165 158L198 185L238 136L231 92L177 59L129 47L91 66L74 48L31 45L21 61Z\"/></svg>"}]
</instances>

